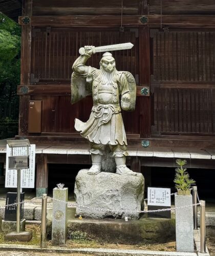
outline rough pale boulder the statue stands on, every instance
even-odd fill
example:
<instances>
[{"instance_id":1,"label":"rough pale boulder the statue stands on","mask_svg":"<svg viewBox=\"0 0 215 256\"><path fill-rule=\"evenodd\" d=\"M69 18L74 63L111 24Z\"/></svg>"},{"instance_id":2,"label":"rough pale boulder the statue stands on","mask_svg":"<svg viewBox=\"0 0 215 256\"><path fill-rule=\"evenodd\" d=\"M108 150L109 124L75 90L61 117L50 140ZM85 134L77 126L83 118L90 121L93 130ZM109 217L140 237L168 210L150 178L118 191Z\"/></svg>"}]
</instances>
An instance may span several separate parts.
<instances>
[{"instance_id":1,"label":"rough pale boulder the statue stands on","mask_svg":"<svg viewBox=\"0 0 215 256\"><path fill-rule=\"evenodd\" d=\"M79 171L75 180L76 217L139 219L144 208L144 177Z\"/></svg>"}]
</instances>

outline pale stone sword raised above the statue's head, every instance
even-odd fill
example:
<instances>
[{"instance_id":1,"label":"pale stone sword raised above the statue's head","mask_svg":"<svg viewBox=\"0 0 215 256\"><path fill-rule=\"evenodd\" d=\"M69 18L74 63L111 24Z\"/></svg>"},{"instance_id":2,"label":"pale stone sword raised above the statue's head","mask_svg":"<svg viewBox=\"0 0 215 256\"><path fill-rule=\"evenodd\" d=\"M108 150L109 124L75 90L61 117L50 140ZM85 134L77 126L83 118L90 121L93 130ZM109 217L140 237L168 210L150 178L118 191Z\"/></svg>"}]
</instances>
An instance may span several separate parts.
<instances>
[{"instance_id":1,"label":"pale stone sword raised above the statue's head","mask_svg":"<svg viewBox=\"0 0 215 256\"><path fill-rule=\"evenodd\" d=\"M124 44L109 45L109 46L99 46L99 47L92 46L92 50L93 50L93 53L109 52L109 51L127 50L127 49L131 49L133 46L134 45L131 42L125 42ZM85 54L84 47L81 47L79 49L79 53L80 55Z\"/></svg>"}]
</instances>

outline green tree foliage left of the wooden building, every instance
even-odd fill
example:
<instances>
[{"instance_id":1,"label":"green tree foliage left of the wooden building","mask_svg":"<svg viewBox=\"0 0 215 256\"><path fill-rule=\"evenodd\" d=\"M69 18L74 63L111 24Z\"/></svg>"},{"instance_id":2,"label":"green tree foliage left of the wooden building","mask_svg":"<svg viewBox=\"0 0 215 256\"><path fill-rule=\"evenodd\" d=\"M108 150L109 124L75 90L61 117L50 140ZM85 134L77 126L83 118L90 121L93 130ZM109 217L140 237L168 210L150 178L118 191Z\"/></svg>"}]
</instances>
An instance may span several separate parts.
<instances>
[{"instance_id":1,"label":"green tree foliage left of the wooden building","mask_svg":"<svg viewBox=\"0 0 215 256\"><path fill-rule=\"evenodd\" d=\"M11 122L18 120L16 88L20 80L20 34L18 24L0 12L0 122L2 124L6 120ZM4 132L2 129L3 126L0 126L0 136L7 137L5 129Z\"/></svg>"}]
</instances>

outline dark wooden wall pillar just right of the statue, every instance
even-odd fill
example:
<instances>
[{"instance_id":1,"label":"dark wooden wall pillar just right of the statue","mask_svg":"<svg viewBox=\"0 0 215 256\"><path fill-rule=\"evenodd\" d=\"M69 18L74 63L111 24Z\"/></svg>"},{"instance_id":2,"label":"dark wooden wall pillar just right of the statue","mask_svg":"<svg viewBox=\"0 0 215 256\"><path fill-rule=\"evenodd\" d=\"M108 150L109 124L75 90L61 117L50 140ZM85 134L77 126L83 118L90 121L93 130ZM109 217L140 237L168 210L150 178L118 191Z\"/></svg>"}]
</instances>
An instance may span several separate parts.
<instances>
[{"instance_id":1,"label":"dark wooden wall pillar just right of the statue","mask_svg":"<svg viewBox=\"0 0 215 256\"><path fill-rule=\"evenodd\" d=\"M139 28L139 79L144 86L150 86L150 36L148 26ZM140 100L140 136L142 138L150 137L151 129L151 107L150 97L141 97Z\"/></svg>"}]
</instances>

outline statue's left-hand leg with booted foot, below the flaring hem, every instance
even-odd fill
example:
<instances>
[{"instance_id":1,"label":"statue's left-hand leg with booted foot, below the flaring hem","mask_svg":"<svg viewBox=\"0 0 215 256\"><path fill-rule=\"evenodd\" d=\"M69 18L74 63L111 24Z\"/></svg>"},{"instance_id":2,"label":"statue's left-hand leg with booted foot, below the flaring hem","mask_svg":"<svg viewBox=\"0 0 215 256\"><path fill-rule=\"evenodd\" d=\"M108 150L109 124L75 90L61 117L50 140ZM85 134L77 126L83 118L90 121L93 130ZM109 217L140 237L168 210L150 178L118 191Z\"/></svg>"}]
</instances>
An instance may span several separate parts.
<instances>
[{"instance_id":1,"label":"statue's left-hand leg with booted foot, below the flaring hem","mask_svg":"<svg viewBox=\"0 0 215 256\"><path fill-rule=\"evenodd\" d=\"M89 169L88 174L96 175L101 172L101 159L103 155L104 145L91 142L91 159L92 167Z\"/></svg>"}]
</instances>

